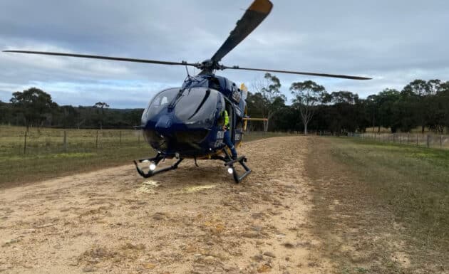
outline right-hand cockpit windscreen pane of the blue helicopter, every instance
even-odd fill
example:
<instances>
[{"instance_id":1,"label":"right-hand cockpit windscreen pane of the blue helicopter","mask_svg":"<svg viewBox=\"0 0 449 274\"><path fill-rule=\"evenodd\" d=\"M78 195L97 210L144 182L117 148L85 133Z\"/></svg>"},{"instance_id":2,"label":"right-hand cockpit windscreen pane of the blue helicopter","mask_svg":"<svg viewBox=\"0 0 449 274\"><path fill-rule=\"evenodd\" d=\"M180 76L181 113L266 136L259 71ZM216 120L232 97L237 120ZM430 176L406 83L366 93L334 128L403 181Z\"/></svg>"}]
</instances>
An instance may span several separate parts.
<instances>
[{"instance_id":1,"label":"right-hand cockpit windscreen pane of the blue helicopter","mask_svg":"<svg viewBox=\"0 0 449 274\"><path fill-rule=\"evenodd\" d=\"M220 95L208 88L185 90L175 105L175 115L187 127L212 127Z\"/></svg>"}]
</instances>

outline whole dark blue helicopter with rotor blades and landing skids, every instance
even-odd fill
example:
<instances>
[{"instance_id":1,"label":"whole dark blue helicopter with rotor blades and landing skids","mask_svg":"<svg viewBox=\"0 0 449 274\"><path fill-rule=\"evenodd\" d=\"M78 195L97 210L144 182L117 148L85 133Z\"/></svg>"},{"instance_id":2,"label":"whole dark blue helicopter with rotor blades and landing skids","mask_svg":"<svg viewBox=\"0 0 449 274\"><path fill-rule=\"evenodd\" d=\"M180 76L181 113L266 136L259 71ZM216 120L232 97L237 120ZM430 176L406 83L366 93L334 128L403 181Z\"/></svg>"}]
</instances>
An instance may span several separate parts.
<instances>
[{"instance_id":1,"label":"whole dark blue helicopter with rotor blades and landing skids","mask_svg":"<svg viewBox=\"0 0 449 274\"><path fill-rule=\"evenodd\" d=\"M145 108L141 125L137 128L143 131L148 144L157 154L155 157L134 161L140 176L148 178L162 172L177 169L183 159L215 159L224 162L227 172L232 174L234 181L239 183L252 170L247 166L247 157L241 155L235 159L229 153L229 147L224 144L224 117L226 110L229 117L230 139L235 147L242 143L243 132L247 121L245 102L247 90L237 87L231 80L215 75L217 70L254 70L273 73L291 73L299 75L323 76L331 78L345 78L353 80L368 80L371 78L336 75L327 73L306 73L290 70L272 70L262 68L242 68L237 65L226 66L220 61L232 49L246 38L272 10L273 4L269 0L254 0L228 38L212 58L201 63L170 62L165 60L148 60L135 58L119 58L111 56L93 56L76 53L55 53L43 51L4 51L8 53L29 53L48 56L70 56L78 58L96 58L137 63L153 63L160 65L191 66L200 70L197 75L189 75L181 87L168 88L157 93ZM177 159L168 167L158 169L158 164L165 159ZM146 165L145 171L142 167ZM238 174L235 167L240 165L244 172ZM148 169L148 170L147 170Z\"/></svg>"}]
</instances>

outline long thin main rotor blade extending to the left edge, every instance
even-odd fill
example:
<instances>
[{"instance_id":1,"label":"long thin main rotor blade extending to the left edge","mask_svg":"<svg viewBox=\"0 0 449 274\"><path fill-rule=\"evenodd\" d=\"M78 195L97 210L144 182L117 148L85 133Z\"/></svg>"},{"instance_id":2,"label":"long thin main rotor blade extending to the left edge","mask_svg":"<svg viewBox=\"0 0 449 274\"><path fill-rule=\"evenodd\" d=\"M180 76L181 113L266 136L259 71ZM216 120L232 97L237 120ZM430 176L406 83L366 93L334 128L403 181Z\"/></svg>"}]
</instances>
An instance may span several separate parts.
<instances>
[{"instance_id":1,"label":"long thin main rotor blade extending to the left edge","mask_svg":"<svg viewBox=\"0 0 449 274\"><path fill-rule=\"evenodd\" d=\"M152 63L160 65L192 65L198 66L198 63L187 63L187 62L170 62L170 61L160 61L160 60L146 60L146 59L135 59L135 58L121 58L121 57L110 57L110 56L91 56L86 54L76 54L76 53L52 53L48 51L3 51L4 53L28 53L28 54L41 54L46 56L70 56L79 58L93 58L93 59L103 59L103 60L115 60L124 62L136 62L136 63Z\"/></svg>"}]
</instances>

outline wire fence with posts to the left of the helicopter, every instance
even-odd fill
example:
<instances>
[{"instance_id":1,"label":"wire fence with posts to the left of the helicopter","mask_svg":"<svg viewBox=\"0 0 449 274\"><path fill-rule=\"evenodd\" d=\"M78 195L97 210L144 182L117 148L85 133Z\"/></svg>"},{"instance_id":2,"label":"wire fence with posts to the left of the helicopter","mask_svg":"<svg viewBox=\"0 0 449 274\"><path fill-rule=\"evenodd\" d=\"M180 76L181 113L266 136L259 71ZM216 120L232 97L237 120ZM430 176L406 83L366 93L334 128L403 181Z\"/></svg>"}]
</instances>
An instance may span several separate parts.
<instances>
[{"instance_id":1,"label":"wire fence with posts to the left of the helicopter","mask_svg":"<svg viewBox=\"0 0 449 274\"><path fill-rule=\"evenodd\" d=\"M93 149L145 144L140 130L0 129L0 155L88 152Z\"/></svg>"}]
</instances>

